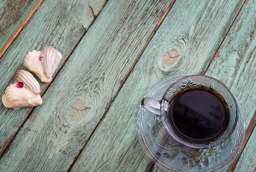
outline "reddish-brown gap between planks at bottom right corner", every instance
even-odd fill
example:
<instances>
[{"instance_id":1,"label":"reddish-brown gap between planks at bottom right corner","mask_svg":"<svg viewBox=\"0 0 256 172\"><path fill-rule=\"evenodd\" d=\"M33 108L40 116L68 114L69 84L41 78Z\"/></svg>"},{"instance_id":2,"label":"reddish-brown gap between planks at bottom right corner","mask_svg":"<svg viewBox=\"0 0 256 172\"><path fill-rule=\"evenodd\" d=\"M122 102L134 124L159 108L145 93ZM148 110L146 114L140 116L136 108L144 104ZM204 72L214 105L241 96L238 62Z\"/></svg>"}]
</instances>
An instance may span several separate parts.
<instances>
[{"instance_id":1,"label":"reddish-brown gap between planks at bottom right corner","mask_svg":"<svg viewBox=\"0 0 256 172\"><path fill-rule=\"evenodd\" d=\"M236 165L238 164L238 161L240 158L240 155L243 152L243 148L246 147L246 144L247 144L255 126L256 126L256 111L254 112L253 118L251 119L249 126L246 129L246 138L244 139L242 150L241 150L240 154L238 155L238 157L235 159L235 161L233 163L231 163L231 165L229 165L227 172L235 171Z\"/></svg>"}]
</instances>

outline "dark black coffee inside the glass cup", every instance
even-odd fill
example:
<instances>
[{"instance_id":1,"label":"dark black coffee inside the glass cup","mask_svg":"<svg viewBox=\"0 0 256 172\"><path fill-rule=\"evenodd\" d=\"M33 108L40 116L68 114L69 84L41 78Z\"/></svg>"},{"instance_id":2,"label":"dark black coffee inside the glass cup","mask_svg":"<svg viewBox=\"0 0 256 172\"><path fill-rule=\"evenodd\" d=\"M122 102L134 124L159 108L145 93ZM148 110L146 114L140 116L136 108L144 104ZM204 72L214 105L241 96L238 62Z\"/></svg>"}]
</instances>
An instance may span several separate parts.
<instances>
[{"instance_id":1,"label":"dark black coffee inside the glass cup","mask_svg":"<svg viewBox=\"0 0 256 172\"><path fill-rule=\"evenodd\" d=\"M209 88L187 88L172 99L168 120L183 139L206 143L217 138L229 121L224 100Z\"/></svg>"}]
</instances>

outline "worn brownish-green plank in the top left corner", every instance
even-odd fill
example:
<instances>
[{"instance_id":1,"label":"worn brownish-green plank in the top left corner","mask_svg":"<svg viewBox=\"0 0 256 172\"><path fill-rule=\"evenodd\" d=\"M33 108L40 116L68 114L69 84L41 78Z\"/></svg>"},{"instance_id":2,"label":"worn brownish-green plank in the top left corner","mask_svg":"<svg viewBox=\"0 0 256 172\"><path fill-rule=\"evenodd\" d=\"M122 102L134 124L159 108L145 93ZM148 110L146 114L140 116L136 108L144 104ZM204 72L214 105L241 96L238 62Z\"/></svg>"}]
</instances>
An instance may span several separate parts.
<instances>
[{"instance_id":1,"label":"worn brownish-green plank in the top left corner","mask_svg":"<svg viewBox=\"0 0 256 172\"><path fill-rule=\"evenodd\" d=\"M17 28L21 27L21 22L27 18L33 7L39 1L40 0L15 0L0 2L0 52L7 40L14 39L10 36L12 36ZM1 54L2 53L0 53L0 56Z\"/></svg>"}]
</instances>

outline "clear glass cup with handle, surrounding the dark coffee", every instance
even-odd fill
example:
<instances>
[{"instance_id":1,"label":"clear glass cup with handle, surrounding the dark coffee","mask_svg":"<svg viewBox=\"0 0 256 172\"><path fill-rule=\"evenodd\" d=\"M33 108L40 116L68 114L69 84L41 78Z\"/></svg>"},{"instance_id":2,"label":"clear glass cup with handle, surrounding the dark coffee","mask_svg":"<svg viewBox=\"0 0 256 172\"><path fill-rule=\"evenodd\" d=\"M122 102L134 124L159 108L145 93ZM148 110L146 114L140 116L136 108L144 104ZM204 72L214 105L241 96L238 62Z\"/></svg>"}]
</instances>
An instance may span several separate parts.
<instances>
[{"instance_id":1,"label":"clear glass cup with handle, surrounding the dark coffee","mask_svg":"<svg viewBox=\"0 0 256 172\"><path fill-rule=\"evenodd\" d=\"M221 131L220 134L214 136L214 138L207 142L196 142L193 138L186 138L182 136L181 132L178 132L175 123L172 122L173 119L170 118L169 107L172 100L175 100L175 97L183 91L186 91L187 89L197 90L204 88L208 88L210 91L214 92L217 97L223 100L224 107L228 110L229 116L228 121L225 123L224 131ZM141 105L146 108L146 110L161 117L165 130L167 130L168 134L170 134L172 138L185 146L193 148L210 148L223 143L232 134L238 121L238 105L234 95L219 80L204 75L183 77L182 79L175 81L175 83L167 89L161 101L151 97L144 97ZM193 123L193 120L191 122Z\"/></svg>"}]
</instances>

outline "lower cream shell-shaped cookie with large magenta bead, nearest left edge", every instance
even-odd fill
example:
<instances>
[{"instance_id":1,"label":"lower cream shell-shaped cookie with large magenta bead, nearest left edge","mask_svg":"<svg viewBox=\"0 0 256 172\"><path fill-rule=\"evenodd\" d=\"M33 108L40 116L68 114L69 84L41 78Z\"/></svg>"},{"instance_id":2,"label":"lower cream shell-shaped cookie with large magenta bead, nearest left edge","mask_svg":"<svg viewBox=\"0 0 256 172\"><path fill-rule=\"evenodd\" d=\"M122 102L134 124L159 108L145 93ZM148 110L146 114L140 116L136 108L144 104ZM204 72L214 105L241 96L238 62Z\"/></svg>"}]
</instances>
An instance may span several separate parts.
<instances>
[{"instance_id":1,"label":"lower cream shell-shaped cookie with large magenta bead, nearest left edge","mask_svg":"<svg viewBox=\"0 0 256 172\"><path fill-rule=\"evenodd\" d=\"M6 88L2 96L3 105L6 108L19 109L33 107L43 103L39 83L28 71L19 71L14 76L15 84Z\"/></svg>"}]
</instances>

